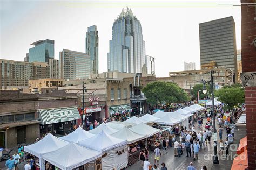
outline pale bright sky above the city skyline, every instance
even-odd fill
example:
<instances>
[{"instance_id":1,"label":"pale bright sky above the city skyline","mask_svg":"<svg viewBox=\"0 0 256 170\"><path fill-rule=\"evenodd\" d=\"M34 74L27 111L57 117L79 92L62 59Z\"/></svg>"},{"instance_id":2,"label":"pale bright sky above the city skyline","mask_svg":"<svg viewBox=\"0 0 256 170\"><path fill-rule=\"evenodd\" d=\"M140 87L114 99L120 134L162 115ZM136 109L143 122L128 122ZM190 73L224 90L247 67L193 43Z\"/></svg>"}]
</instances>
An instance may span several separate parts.
<instances>
[{"instance_id":1,"label":"pale bright sky above the city skyline","mask_svg":"<svg viewBox=\"0 0 256 170\"><path fill-rule=\"evenodd\" d=\"M0 1L0 58L23 61L33 42L55 40L55 59L63 49L85 52L87 27L99 32L99 72L107 71L114 19L128 6L142 24L146 55L156 61L156 76L183 70L183 62L200 69L199 23L233 16L241 49L239 1Z\"/></svg>"}]
</instances>

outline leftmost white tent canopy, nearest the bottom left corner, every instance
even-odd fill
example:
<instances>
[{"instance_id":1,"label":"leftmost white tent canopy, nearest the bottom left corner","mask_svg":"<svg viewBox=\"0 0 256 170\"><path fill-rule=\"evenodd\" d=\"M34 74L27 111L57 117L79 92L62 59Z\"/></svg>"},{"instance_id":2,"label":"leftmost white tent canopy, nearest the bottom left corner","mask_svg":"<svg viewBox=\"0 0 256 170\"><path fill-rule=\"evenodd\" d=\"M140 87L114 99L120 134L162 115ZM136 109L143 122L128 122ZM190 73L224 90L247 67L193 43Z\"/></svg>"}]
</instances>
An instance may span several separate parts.
<instances>
[{"instance_id":1,"label":"leftmost white tent canopy, nearest the bottom left corner","mask_svg":"<svg viewBox=\"0 0 256 170\"><path fill-rule=\"evenodd\" d=\"M39 140L37 143L25 146L24 151L29 152L32 155L35 155L38 158L41 158L41 155L51 151L59 150L69 143L62 139L59 139L53 136L51 133L48 133L42 140Z\"/></svg>"}]
</instances>

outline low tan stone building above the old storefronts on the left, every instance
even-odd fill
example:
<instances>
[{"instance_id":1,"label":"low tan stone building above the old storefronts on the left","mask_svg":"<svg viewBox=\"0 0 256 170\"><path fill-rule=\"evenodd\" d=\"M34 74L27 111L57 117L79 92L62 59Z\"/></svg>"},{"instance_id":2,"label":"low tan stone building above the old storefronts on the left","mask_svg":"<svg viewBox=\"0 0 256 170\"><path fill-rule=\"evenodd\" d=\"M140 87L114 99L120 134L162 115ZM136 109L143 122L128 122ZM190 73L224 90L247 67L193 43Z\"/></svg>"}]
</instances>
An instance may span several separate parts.
<instances>
[{"instance_id":1,"label":"low tan stone building above the old storefronts on the left","mask_svg":"<svg viewBox=\"0 0 256 170\"><path fill-rule=\"evenodd\" d=\"M59 86L63 86L64 79L37 79L37 80L29 80L29 93L34 90L38 90L39 93L42 93L42 88L58 88ZM35 89L36 88L36 89Z\"/></svg>"}]
</instances>

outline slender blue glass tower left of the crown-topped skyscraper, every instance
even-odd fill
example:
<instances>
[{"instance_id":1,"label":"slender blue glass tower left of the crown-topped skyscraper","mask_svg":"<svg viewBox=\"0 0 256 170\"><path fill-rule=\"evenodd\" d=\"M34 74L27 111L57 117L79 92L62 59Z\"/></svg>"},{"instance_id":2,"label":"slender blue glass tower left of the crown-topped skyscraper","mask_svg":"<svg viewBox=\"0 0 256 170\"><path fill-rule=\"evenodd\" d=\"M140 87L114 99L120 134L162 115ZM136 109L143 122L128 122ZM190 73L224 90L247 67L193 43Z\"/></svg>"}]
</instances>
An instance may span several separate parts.
<instances>
[{"instance_id":1,"label":"slender blue glass tower left of the crown-topped skyscraper","mask_svg":"<svg viewBox=\"0 0 256 170\"><path fill-rule=\"evenodd\" d=\"M86 53L91 58L91 73L98 74L99 72L99 37L97 26L88 27L86 32Z\"/></svg>"}]
</instances>

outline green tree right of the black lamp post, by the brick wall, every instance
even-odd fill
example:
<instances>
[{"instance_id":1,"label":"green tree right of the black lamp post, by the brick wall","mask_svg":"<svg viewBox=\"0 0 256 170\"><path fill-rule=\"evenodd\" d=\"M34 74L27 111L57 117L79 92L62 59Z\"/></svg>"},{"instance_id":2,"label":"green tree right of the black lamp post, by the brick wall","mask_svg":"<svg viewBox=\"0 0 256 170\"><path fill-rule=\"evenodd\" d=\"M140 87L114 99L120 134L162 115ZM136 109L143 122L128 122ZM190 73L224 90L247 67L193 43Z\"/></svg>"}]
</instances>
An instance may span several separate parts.
<instances>
[{"instance_id":1,"label":"green tree right of the black lamp post, by the brick wall","mask_svg":"<svg viewBox=\"0 0 256 170\"><path fill-rule=\"evenodd\" d=\"M215 92L215 97L218 100L227 105L228 110L232 110L238 103L242 104L245 102L245 90L241 87L227 87L221 88Z\"/></svg>"}]
</instances>

